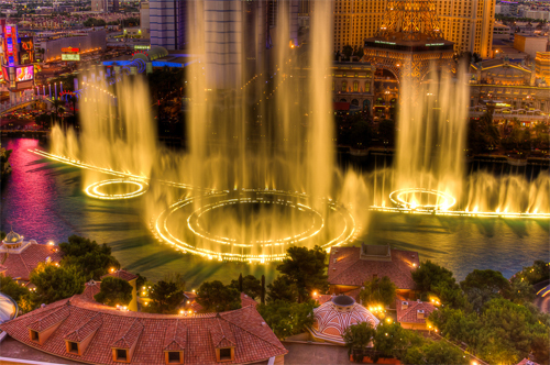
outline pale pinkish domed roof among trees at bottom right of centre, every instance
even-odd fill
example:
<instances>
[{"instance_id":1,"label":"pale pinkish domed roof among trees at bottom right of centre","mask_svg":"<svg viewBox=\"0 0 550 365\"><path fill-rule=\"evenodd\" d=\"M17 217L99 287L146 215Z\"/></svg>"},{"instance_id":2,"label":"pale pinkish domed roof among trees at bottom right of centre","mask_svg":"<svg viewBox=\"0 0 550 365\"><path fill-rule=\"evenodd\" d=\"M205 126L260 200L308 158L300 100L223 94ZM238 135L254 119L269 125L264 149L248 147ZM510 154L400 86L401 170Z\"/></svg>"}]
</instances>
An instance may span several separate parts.
<instances>
[{"instance_id":1,"label":"pale pinkish domed roof among trees at bottom right of centre","mask_svg":"<svg viewBox=\"0 0 550 365\"><path fill-rule=\"evenodd\" d=\"M336 296L314 310L315 322L310 329L314 336L343 344L345 329L352 324L370 322L378 325L380 320L365 307L349 296Z\"/></svg>"}]
</instances>

